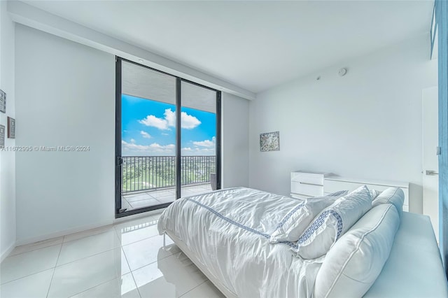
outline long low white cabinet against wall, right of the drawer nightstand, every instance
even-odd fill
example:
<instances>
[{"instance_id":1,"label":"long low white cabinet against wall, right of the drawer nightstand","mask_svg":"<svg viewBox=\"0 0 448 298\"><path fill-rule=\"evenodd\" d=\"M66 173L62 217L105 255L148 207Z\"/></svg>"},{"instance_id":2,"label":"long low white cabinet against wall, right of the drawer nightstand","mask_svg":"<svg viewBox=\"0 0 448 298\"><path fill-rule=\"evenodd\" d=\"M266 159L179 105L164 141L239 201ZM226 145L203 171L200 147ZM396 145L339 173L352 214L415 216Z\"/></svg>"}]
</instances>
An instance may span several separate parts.
<instances>
[{"instance_id":1,"label":"long low white cabinet against wall, right of the drawer nightstand","mask_svg":"<svg viewBox=\"0 0 448 298\"><path fill-rule=\"evenodd\" d=\"M324 194L330 194L338 190L356 190L356 188L362 185L367 185L370 190L379 190L380 192L386 190L388 187L401 188L405 192L403 211L409 211L409 183L407 182L327 176L323 179L323 192Z\"/></svg>"}]
</instances>

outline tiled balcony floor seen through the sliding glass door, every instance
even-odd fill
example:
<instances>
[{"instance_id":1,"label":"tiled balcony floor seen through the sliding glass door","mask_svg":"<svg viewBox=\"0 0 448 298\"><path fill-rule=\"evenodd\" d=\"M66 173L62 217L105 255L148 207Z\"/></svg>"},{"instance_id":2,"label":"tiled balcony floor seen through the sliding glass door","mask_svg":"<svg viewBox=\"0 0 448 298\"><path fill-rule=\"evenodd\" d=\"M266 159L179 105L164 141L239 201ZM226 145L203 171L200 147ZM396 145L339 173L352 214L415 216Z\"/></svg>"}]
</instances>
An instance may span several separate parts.
<instances>
[{"instance_id":1,"label":"tiled balcony floor seen through the sliding glass door","mask_svg":"<svg viewBox=\"0 0 448 298\"><path fill-rule=\"evenodd\" d=\"M210 192L210 183L183 186L181 189L181 196L186 197L201 192ZM155 206L164 203L171 203L176 199L176 189L166 188L163 190L149 190L148 192L139 192L138 194L125 194L121 198L121 208L130 211L132 209L144 208L148 206Z\"/></svg>"}]
</instances>

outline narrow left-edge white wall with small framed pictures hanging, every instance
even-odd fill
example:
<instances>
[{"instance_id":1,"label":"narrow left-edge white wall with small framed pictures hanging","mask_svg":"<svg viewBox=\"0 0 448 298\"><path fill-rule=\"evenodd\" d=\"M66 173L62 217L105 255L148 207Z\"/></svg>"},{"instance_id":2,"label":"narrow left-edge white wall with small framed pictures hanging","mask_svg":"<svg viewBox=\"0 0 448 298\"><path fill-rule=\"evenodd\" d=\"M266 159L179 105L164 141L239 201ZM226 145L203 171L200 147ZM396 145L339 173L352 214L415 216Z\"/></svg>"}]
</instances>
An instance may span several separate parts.
<instances>
[{"instance_id":1,"label":"narrow left-edge white wall with small framed pictures hanging","mask_svg":"<svg viewBox=\"0 0 448 298\"><path fill-rule=\"evenodd\" d=\"M14 23L0 1L0 89L6 92L6 113L0 113L0 124L8 129L7 117L15 118L14 94ZM5 136L5 146L15 146ZM0 261L15 245L15 152L0 150Z\"/></svg>"}]
</instances>

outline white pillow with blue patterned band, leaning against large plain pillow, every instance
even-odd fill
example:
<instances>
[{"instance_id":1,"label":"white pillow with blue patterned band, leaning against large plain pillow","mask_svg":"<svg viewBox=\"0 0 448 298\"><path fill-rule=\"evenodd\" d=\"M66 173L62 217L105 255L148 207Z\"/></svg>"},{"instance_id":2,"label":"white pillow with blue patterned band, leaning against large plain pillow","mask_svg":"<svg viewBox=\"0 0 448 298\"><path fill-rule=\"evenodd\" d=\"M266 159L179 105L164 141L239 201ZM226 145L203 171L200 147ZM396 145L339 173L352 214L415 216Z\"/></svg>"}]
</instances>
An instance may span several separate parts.
<instances>
[{"instance_id":1,"label":"white pillow with blue patterned band, leaning against large plain pillow","mask_svg":"<svg viewBox=\"0 0 448 298\"><path fill-rule=\"evenodd\" d=\"M299 237L297 247L291 250L303 259L316 259L325 255L339 236L370 208L372 195L367 186L363 185L319 213Z\"/></svg>"}]
</instances>

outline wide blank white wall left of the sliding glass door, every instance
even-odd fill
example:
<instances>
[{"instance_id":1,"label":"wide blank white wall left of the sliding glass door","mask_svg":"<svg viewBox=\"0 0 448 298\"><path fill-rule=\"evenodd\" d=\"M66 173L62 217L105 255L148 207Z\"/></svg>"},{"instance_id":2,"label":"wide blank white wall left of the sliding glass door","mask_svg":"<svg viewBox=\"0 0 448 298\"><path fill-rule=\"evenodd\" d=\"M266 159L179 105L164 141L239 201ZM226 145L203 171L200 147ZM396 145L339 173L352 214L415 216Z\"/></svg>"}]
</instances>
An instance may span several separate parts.
<instances>
[{"instance_id":1,"label":"wide blank white wall left of the sliding glass door","mask_svg":"<svg viewBox=\"0 0 448 298\"><path fill-rule=\"evenodd\" d=\"M114 218L115 57L16 25L17 239L27 243Z\"/></svg>"}]
</instances>

